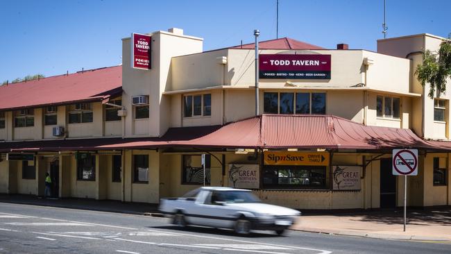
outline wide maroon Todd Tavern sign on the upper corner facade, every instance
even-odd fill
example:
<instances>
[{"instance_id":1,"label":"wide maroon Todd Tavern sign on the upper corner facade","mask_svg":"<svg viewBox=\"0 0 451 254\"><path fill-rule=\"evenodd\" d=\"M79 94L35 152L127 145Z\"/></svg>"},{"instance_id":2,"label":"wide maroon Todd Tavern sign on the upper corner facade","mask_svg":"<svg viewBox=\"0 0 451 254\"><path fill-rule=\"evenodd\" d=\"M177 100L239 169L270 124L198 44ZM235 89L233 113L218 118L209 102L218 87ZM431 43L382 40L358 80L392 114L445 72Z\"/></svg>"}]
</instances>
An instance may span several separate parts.
<instances>
[{"instance_id":1,"label":"wide maroon Todd Tavern sign on the upper corner facade","mask_svg":"<svg viewBox=\"0 0 451 254\"><path fill-rule=\"evenodd\" d=\"M330 55L259 55L259 78L330 79Z\"/></svg>"}]
</instances>

